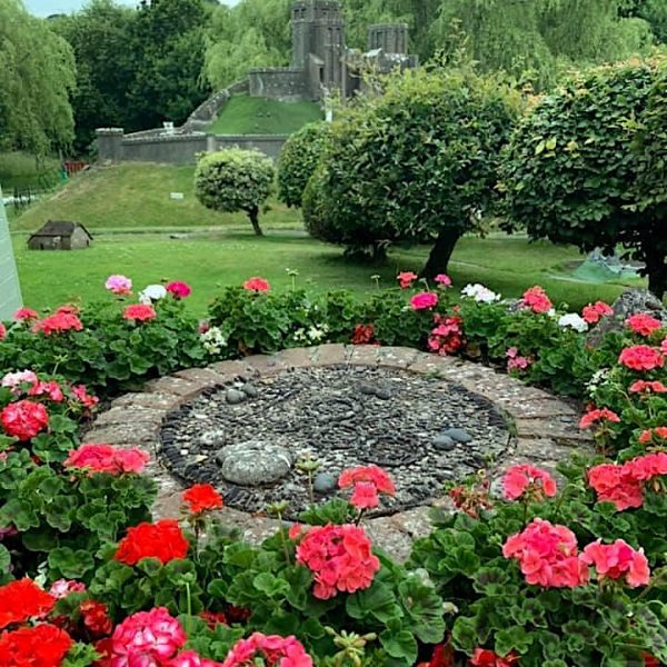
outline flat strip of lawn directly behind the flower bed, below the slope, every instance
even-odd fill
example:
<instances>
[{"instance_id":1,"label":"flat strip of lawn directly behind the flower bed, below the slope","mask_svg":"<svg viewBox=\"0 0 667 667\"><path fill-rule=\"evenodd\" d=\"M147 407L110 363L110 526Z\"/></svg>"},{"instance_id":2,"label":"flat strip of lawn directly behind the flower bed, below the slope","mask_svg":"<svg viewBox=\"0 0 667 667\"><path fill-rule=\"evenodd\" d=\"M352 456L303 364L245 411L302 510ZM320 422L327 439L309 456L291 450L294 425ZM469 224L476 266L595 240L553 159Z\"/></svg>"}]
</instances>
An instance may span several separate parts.
<instances>
[{"instance_id":1,"label":"flat strip of lawn directly behind the flower bed, below the slope","mask_svg":"<svg viewBox=\"0 0 667 667\"><path fill-rule=\"evenodd\" d=\"M110 273L125 273L141 289L160 280L185 280L193 288L192 307L203 313L208 301L226 285L239 285L250 276L263 276L276 288L288 288L287 268L298 269L299 285L316 291L349 288L359 293L380 285L392 287L400 270L416 270L428 248L398 250L382 268L355 265L340 249L303 237L297 231L272 231L265 238L250 232L222 230L199 232L186 239L166 233L99 237L88 250L72 252L29 251L26 237L16 235L14 250L24 301L33 308L103 296ZM563 263L577 257L574 249L548 242L528 243L520 238L462 239L457 247L451 277L457 288L482 282L506 296L519 296L526 287L542 285L556 301L573 307L597 299L613 300L619 285L589 285L565 280Z\"/></svg>"}]
</instances>

